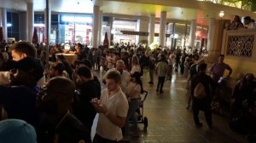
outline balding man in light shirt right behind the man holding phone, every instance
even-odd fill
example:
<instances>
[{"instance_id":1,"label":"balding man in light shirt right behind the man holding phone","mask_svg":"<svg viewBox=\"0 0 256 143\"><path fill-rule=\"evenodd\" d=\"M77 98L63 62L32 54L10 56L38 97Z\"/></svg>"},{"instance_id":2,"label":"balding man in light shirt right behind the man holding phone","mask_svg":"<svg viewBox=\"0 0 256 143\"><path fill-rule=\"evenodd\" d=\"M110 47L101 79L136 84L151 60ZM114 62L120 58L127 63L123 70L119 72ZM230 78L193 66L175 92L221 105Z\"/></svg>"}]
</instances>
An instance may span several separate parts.
<instances>
[{"instance_id":1,"label":"balding man in light shirt right behind the man holding phone","mask_svg":"<svg viewBox=\"0 0 256 143\"><path fill-rule=\"evenodd\" d=\"M123 90L123 92L126 92L128 83L130 83L131 77L130 77L130 73L125 71L125 63L123 60L118 60L116 62L116 67L112 68L110 70L108 70L108 72L111 71L118 71L120 72L120 76L121 76L121 89ZM103 77L103 83L105 83L106 81L106 76L108 75L108 72L104 75Z\"/></svg>"}]
</instances>

